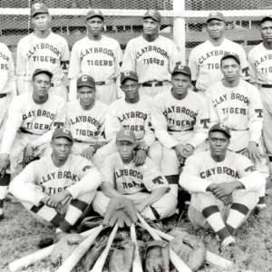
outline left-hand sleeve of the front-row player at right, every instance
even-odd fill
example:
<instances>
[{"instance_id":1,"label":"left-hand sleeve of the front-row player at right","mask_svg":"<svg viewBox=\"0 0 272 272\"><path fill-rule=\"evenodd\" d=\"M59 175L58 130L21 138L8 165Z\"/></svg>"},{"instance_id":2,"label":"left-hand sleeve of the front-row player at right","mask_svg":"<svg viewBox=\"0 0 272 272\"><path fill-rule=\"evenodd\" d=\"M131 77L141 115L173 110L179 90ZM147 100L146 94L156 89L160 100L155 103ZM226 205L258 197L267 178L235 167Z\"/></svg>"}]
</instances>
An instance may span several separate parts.
<instances>
[{"instance_id":1,"label":"left-hand sleeve of the front-row player at right","mask_svg":"<svg viewBox=\"0 0 272 272\"><path fill-rule=\"evenodd\" d=\"M189 192L204 193L212 182L199 177L199 170L201 163L203 162L203 158L197 156L199 155L190 156L186 160L185 166L180 174L179 184Z\"/></svg>"}]
</instances>

